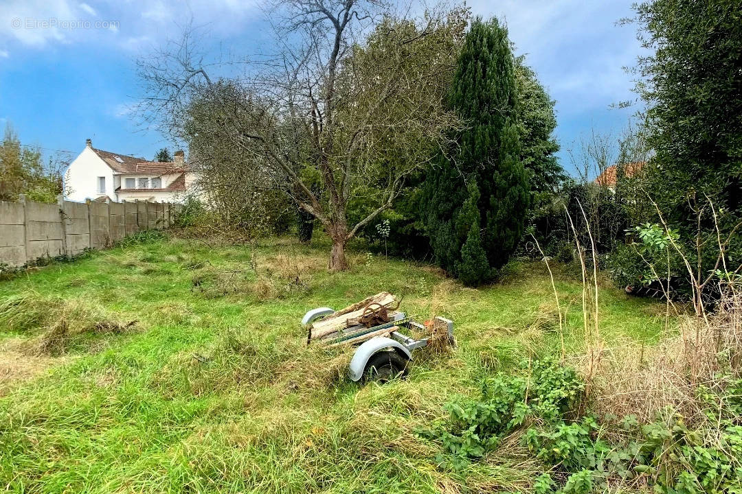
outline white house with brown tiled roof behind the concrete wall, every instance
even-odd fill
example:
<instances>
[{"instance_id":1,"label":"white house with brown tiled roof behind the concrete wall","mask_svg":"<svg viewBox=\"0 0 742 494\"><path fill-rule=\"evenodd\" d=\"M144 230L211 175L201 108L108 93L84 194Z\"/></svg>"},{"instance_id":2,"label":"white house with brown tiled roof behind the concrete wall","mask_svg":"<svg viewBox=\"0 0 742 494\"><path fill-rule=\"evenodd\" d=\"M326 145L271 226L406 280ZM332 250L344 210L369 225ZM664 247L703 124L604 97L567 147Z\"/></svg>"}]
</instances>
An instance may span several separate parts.
<instances>
[{"instance_id":1,"label":"white house with brown tiled roof behind the concrete wall","mask_svg":"<svg viewBox=\"0 0 742 494\"><path fill-rule=\"evenodd\" d=\"M85 144L65 172L68 201L180 202L194 188L194 173L183 151L175 152L174 161L159 163L96 149L91 139Z\"/></svg>"}]
</instances>

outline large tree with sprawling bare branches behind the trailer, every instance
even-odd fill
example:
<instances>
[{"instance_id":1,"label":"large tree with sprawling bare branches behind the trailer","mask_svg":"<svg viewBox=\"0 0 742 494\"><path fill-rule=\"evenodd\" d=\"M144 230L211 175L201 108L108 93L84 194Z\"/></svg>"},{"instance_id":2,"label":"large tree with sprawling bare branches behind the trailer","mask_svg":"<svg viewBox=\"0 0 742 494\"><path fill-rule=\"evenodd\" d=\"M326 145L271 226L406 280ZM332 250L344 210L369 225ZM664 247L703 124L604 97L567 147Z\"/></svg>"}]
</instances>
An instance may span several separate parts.
<instances>
[{"instance_id":1,"label":"large tree with sprawling bare branches behind the trailer","mask_svg":"<svg viewBox=\"0 0 742 494\"><path fill-rule=\"evenodd\" d=\"M215 76L225 66L195 50L193 30L141 61L142 112L183 138L188 107L208 101L212 124L190 132L228 141L244 166L285 182L332 238L329 269L344 270L347 241L460 124L444 99L468 15L438 7L413 19L379 0L280 1L269 10L279 52L245 62L241 76ZM370 182L378 207L349 224L348 201Z\"/></svg>"}]
</instances>

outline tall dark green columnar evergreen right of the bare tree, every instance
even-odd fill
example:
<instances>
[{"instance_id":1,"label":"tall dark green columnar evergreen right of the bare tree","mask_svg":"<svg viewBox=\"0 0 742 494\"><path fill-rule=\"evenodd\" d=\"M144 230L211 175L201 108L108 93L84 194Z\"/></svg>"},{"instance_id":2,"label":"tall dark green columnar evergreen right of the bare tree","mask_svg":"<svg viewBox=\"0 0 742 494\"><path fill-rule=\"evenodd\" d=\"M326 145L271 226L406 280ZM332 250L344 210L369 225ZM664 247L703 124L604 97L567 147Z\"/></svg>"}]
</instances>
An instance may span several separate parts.
<instances>
[{"instance_id":1,"label":"tall dark green columnar evergreen right of the bare tree","mask_svg":"<svg viewBox=\"0 0 742 494\"><path fill-rule=\"evenodd\" d=\"M470 285L489 281L508 261L528 210L515 77L507 28L474 21L450 97L467 127L454 136L453 156L429 170L424 201L437 261Z\"/></svg>"}]
</instances>

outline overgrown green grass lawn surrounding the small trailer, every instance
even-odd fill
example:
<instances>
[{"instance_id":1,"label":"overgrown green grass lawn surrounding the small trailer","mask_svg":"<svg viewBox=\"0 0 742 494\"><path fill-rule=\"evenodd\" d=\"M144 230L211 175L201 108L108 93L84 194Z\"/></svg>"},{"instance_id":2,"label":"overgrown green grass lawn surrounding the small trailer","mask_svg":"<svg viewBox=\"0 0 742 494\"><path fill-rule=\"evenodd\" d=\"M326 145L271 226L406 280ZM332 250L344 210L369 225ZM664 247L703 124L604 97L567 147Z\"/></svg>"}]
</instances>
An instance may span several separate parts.
<instances>
[{"instance_id":1,"label":"overgrown green grass lawn surrounding the small trailer","mask_svg":"<svg viewBox=\"0 0 742 494\"><path fill-rule=\"evenodd\" d=\"M257 250L162 238L0 282L0 486L24 493L484 493L528 491L516 438L464 470L415 427L519 361L580 353L582 285L556 267L559 334L542 264L464 288L427 265L291 239ZM255 270L250 266L255 266ZM257 275L256 275L257 271ZM600 329L653 344L664 306L603 282ZM360 386L348 353L306 347L299 320L389 290L454 321L458 347L409 378ZM131 324L133 321L134 324Z\"/></svg>"}]
</instances>

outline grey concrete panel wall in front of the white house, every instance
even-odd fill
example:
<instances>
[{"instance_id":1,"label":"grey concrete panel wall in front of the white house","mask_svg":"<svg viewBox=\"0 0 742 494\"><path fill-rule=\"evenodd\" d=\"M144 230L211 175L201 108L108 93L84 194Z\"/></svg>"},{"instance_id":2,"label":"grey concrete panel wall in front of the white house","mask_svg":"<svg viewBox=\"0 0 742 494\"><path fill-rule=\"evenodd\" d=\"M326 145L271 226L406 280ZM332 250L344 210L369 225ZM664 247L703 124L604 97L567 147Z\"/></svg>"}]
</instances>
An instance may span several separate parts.
<instances>
[{"instance_id":1,"label":"grey concrete panel wall in front of the white house","mask_svg":"<svg viewBox=\"0 0 742 494\"><path fill-rule=\"evenodd\" d=\"M105 249L140 230L172 224L177 205L137 202L58 204L0 201L0 264L19 267L39 258L76 256Z\"/></svg>"}]
</instances>

